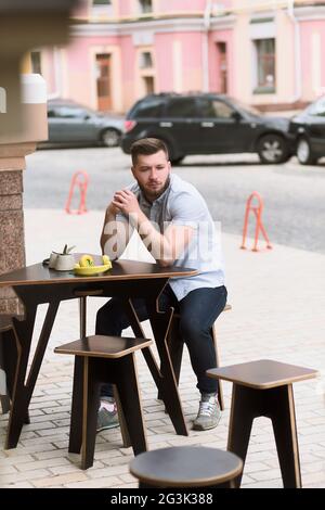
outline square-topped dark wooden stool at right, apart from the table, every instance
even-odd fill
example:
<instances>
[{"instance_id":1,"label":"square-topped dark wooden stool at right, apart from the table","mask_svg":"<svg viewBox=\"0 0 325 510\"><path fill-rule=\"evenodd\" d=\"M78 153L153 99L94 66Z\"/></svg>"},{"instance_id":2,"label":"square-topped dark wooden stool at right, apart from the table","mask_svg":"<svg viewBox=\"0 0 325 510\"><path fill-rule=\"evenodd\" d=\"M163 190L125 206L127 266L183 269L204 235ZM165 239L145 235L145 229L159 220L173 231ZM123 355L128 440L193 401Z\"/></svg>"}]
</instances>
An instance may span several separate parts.
<instances>
[{"instance_id":1,"label":"square-topped dark wooden stool at right, apart from the table","mask_svg":"<svg viewBox=\"0 0 325 510\"><path fill-rule=\"evenodd\" d=\"M207 371L211 378L233 382L227 449L244 463L255 418L272 420L285 488L301 487L292 383L317 375L311 370L261 359ZM242 475L236 483L239 486Z\"/></svg>"}]
</instances>

